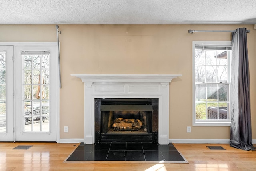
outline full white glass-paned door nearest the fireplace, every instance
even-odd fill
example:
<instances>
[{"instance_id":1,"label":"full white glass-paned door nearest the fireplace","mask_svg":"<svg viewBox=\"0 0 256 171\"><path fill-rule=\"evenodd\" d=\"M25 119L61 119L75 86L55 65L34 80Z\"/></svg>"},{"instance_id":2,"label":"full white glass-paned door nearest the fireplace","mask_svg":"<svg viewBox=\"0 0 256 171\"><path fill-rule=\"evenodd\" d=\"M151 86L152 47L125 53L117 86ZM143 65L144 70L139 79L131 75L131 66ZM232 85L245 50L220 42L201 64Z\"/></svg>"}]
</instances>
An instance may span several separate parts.
<instances>
[{"instance_id":1,"label":"full white glass-paned door nearest the fireplace","mask_svg":"<svg viewBox=\"0 0 256 171\"><path fill-rule=\"evenodd\" d=\"M16 141L57 141L56 47L16 48Z\"/></svg>"}]
</instances>

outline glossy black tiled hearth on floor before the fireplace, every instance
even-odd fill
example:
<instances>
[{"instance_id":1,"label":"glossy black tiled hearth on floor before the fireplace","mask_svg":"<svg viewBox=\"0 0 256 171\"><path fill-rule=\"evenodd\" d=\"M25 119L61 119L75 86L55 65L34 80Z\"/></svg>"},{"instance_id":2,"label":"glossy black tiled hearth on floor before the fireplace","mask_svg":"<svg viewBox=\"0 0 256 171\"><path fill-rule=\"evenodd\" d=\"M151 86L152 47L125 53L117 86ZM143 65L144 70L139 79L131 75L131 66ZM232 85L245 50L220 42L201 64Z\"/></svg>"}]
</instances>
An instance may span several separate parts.
<instances>
[{"instance_id":1,"label":"glossy black tiled hearth on floor before the fireplace","mask_svg":"<svg viewBox=\"0 0 256 171\"><path fill-rule=\"evenodd\" d=\"M71 163L69 161L162 161L163 163L187 163L172 143L159 145L156 143L132 142L96 143L92 145L81 143L64 163Z\"/></svg>"}]
</instances>

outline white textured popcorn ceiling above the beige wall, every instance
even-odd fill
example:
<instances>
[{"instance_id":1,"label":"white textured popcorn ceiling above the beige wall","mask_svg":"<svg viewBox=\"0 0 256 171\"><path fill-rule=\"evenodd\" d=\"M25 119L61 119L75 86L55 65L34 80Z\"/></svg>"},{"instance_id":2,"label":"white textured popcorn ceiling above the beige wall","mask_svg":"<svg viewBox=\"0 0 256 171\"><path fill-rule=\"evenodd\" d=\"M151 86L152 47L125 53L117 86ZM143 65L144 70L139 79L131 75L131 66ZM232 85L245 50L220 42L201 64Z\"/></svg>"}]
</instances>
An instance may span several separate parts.
<instances>
[{"instance_id":1,"label":"white textured popcorn ceiling above the beige wall","mask_svg":"<svg viewBox=\"0 0 256 171\"><path fill-rule=\"evenodd\" d=\"M255 0L0 0L0 24L256 24Z\"/></svg>"}]
</instances>

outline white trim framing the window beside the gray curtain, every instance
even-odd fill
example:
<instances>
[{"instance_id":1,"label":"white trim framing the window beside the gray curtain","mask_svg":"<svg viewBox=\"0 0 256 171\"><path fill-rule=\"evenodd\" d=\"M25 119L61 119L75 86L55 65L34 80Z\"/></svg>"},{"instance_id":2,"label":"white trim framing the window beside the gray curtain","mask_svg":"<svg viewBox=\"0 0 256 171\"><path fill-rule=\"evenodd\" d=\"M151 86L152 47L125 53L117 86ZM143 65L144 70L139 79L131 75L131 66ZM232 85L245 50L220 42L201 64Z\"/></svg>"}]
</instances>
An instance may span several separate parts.
<instances>
[{"instance_id":1,"label":"white trim framing the window beside the gray curtain","mask_svg":"<svg viewBox=\"0 0 256 171\"><path fill-rule=\"evenodd\" d=\"M231 41L192 41L192 101L193 101L193 126L230 126L231 120L196 120L196 101L195 101L195 45L196 44L230 44ZM229 59L230 60L230 59ZM231 61L231 60L230 60ZM229 61L229 62L230 62ZM229 64L229 72L231 71L231 64Z\"/></svg>"}]
</instances>

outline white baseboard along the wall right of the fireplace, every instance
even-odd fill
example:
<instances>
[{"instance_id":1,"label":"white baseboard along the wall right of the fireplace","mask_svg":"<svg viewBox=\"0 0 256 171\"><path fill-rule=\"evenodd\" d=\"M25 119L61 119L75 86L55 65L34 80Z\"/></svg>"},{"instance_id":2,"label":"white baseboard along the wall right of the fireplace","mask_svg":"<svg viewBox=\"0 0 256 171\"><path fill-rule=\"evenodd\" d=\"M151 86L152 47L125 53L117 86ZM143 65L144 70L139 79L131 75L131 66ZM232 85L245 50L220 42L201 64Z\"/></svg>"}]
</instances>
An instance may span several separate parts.
<instances>
[{"instance_id":1,"label":"white baseboard along the wall right of the fireplace","mask_svg":"<svg viewBox=\"0 0 256 171\"><path fill-rule=\"evenodd\" d=\"M177 144L229 144L230 139L169 139L169 143ZM252 143L256 144L256 139L252 139Z\"/></svg>"}]
</instances>

